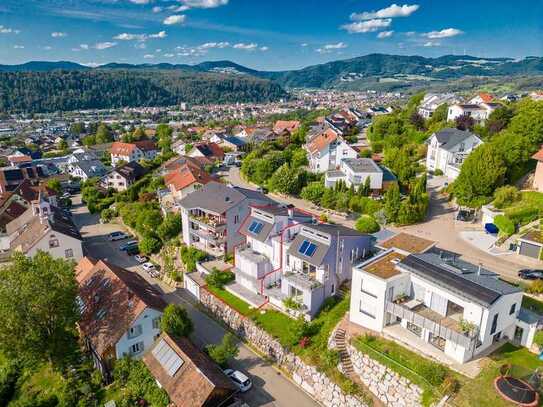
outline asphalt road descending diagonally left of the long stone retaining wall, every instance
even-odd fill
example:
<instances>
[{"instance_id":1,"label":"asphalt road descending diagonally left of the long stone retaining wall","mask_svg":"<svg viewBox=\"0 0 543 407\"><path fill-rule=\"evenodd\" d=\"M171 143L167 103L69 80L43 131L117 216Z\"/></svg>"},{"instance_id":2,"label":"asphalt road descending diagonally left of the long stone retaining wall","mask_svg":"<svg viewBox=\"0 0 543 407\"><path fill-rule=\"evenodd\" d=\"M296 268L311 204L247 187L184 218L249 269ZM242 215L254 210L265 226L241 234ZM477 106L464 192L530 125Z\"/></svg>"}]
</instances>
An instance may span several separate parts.
<instances>
[{"instance_id":1,"label":"asphalt road descending diagonally left of the long stone retaining wall","mask_svg":"<svg viewBox=\"0 0 543 407\"><path fill-rule=\"evenodd\" d=\"M168 303L183 305L194 322L193 341L201 348L208 344L219 343L227 332L219 323L201 312L193 304L191 295L184 289L174 290L144 273L133 257L121 252L121 242L110 242L107 235L122 230L116 224L100 224L98 216L88 212L81 204L80 196L72 197L74 221L84 239L86 253L92 257L107 260L128 270L138 272L158 288ZM266 362L242 342L239 343L239 355L231 363L235 369L248 374L253 381L253 388L241 398L250 406L276 407L315 407L319 404L303 390L287 379L281 372Z\"/></svg>"}]
</instances>

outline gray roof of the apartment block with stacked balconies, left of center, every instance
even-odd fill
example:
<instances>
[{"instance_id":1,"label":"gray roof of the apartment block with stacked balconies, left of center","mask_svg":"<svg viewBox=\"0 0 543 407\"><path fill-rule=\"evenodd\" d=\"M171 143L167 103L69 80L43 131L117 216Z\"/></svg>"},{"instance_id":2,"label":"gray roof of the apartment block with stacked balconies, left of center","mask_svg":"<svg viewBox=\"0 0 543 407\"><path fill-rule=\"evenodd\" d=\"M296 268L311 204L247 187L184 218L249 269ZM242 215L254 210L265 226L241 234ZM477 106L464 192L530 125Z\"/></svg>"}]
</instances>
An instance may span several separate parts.
<instances>
[{"instance_id":1,"label":"gray roof of the apartment block with stacked balconies, left of center","mask_svg":"<svg viewBox=\"0 0 543 407\"><path fill-rule=\"evenodd\" d=\"M228 187L218 182L208 182L198 191L181 199L179 204L186 209L202 208L217 214L224 213L239 205L247 197L237 188Z\"/></svg>"}]
</instances>

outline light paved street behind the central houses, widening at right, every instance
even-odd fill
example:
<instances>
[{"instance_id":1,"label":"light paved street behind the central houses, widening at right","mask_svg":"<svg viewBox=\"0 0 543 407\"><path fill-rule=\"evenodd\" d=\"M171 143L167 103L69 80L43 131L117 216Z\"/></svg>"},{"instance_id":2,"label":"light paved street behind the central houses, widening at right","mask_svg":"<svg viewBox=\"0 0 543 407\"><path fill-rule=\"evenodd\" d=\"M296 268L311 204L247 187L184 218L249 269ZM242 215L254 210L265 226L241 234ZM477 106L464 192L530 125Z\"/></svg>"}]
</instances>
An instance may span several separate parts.
<instances>
[{"instance_id":1,"label":"light paved street behind the central houses, widening at right","mask_svg":"<svg viewBox=\"0 0 543 407\"><path fill-rule=\"evenodd\" d=\"M234 185L255 189L254 185L247 183L241 178L239 168L237 167L230 167L226 179ZM481 250L476 245L467 242L465 239L462 239L460 233L466 230L473 230L474 225L456 222L454 220L455 208L447 202L445 197L438 195L438 187L432 184L433 180L430 178L428 190L431 198L429 215L426 222L404 227L387 226L387 228L396 232L403 231L433 240L437 242L437 247L439 249L457 253L464 260L471 263L482 263L484 267L487 267L508 279L517 280L517 272L519 269L541 268L541 264L535 260L516 254L500 254L499 256L495 256L487 251ZM303 199L277 196L274 194L270 194L270 196L278 201L293 204L298 208L308 210L318 215L322 213L322 211L315 208L313 204ZM329 216L329 219L350 228L354 227L355 221L352 219L344 219L339 216Z\"/></svg>"}]
</instances>

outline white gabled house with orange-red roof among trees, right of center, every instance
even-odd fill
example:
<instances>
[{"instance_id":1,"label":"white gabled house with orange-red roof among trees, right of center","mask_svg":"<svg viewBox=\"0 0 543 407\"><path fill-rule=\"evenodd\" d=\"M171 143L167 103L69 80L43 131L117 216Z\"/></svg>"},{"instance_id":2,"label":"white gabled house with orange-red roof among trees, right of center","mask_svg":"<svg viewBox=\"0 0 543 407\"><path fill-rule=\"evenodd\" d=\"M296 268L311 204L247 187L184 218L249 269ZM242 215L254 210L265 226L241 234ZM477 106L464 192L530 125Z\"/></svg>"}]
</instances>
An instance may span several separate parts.
<instances>
[{"instance_id":1,"label":"white gabled house with orange-red roof among trees, right of center","mask_svg":"<svg viewBox=\"0 0 543 407\"><path fill-rule=\"evenodd\" d=\"M309 140L304 148L308 152L309 168L313 172L335 170L342 160L358 157L358 152L330 128Z\"/></svg>"}]
</instances>

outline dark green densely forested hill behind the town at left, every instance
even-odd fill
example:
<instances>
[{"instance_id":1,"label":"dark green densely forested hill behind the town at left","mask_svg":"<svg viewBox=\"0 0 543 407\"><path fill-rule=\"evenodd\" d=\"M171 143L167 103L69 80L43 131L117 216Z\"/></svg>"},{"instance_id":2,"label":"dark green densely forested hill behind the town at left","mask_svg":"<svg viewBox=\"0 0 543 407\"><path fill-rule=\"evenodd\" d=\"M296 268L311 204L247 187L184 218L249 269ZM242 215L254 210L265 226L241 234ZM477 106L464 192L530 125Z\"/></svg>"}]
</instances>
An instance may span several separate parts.
<instances>
[{"instance_id":1,"label":"dark green densely forested hill behind the town at left","mask_svg":"<svg viewBox=\"0 0 543 407\"><path fill-rule=\"evenodd\" d=\"M134 69L0 72L0 111L8 112L266 102L287 96L280 85L249 75Z\"/></svg>"}]
</instances>

